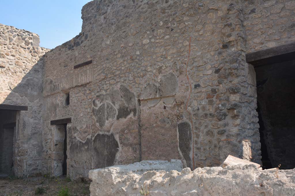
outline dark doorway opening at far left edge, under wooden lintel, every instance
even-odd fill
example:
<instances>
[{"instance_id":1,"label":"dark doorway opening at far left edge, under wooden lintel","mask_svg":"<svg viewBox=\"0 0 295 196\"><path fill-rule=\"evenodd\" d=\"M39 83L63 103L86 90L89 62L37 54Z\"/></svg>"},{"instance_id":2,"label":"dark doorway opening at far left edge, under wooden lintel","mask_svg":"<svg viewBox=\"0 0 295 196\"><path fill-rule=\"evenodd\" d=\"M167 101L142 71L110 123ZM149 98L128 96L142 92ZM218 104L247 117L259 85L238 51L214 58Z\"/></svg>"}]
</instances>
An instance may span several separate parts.
<instances>
[{"instance_id":1,"label":"dark doorway opening at far left edge, under wooden lintel","mask_svg":"<svg viewBox=\"0 0 295 196\"><path fill-rule=\"evenodd\" d=\"M17 111L0 109L0 176L13 173L16 115Z\"/></svg>"}]
</instances>

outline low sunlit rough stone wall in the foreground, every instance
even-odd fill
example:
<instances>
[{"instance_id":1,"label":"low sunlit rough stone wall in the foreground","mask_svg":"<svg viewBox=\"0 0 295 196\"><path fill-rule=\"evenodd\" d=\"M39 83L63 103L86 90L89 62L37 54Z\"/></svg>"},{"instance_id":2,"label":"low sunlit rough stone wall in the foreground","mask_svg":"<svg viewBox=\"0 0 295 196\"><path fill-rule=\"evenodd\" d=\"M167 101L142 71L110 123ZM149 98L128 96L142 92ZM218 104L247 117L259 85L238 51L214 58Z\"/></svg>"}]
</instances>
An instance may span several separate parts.
<instances>
[{"instance_id":1,"label":"low sunlit rough stone wall in the foreground","mask_svg":"<svg viewBox=\"0 0 295 196\"><path fill-rule=\"evenodd\" d=\"M140 162L141 163L141 162ZM136 163L139 164L139 163ZM90 170L91 196L149 195L149 196L201 196L201 195L294 195L295 169L259 170L254 165L204 167L191 171L176 170L136 171L136 165L113 166ZM128 170L130 168L130 170ZM170 167L171 168L171 167ZM149 171L148 171L149 170Z\"/></svg>"}]
</instances>

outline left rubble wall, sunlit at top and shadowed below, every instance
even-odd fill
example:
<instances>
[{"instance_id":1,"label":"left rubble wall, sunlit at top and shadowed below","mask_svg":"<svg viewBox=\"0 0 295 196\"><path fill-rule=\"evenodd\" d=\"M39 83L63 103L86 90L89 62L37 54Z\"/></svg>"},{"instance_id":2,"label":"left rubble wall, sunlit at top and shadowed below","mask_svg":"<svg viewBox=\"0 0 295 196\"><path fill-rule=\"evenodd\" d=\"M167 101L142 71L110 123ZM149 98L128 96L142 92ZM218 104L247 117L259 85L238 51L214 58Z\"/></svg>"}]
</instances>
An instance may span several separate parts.
<instances>
[{"instance_id":1,"label":"left rubble wall, sunlit at top and shadowed below","mask_svg":"<svg viewBox=\"0 0 295 196\"><path fill-rule=\"evenodd\" d=\"M0 24L0 103L27 105L17 113L14 172L41 172L42 55L35 33Z\"/></svg>"}]
</instances>

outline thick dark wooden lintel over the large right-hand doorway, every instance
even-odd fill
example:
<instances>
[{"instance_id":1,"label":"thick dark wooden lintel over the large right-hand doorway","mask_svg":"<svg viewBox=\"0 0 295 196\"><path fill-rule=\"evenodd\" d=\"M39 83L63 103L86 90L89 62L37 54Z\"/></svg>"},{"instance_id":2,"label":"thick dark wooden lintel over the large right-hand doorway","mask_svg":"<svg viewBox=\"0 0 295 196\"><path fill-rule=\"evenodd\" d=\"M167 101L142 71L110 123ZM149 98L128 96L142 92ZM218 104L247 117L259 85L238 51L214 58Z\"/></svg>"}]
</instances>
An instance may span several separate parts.
<instances>
[{"instance_id":1,"label":"thick dark wooden lintel over the large right-hand doorway","mask_svg":"<svg viewBox=\"0 0 295 196\"><path fill-rule=\"evenodd\" d=\"M295 59L295 42L246 54L247 63L253 66L280 63Z\"/></svg>"}]
</instances>

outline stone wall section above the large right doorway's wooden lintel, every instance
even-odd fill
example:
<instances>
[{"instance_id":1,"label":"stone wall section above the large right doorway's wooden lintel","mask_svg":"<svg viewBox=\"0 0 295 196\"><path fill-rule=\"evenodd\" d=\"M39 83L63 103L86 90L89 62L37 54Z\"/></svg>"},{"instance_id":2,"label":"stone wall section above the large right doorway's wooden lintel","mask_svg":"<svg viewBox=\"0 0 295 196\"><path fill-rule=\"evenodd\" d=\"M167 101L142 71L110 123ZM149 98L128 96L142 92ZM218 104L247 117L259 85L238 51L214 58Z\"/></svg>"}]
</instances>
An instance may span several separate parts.
<instances>
[{"instance_id":1,"label":"stone wall section above the large right doorway's wooden lintel","mask_svg":"<svg viewBox=\"0 0 295 196\"><path fill-rule=\"evenodd\" d=\"M244 1L247 51L295 41L295 1Z\"/></svg>"}]
</instances>

